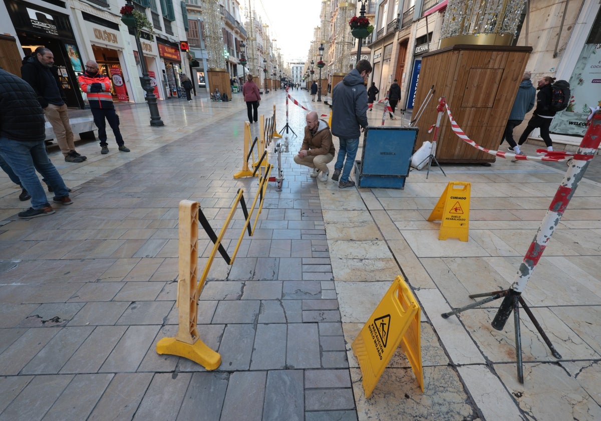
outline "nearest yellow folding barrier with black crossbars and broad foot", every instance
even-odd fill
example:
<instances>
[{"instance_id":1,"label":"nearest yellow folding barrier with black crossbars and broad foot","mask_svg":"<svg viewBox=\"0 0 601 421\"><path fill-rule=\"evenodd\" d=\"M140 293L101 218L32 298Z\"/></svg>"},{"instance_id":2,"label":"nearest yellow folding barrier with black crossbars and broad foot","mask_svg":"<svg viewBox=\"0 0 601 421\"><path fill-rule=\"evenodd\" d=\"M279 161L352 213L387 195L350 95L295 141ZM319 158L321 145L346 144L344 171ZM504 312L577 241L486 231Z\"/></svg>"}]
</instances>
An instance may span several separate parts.
<instances>
[{"instance_id":1,"label":"nearest yellow folding barrier with black crossbars and broad foot","mask_svg":"<svg viewBox=\"0 0 601 421\"><path fill-rule=\"evenodd\" d=\"M266 157L265 152L258 161L258 165L252 175L256 174L257 171L260 171L261 163ZM216 235L215 231L210 226L209 221L203 214L203 211L200 209L200 203L191 200L180 201L178 229L179 277L177 282L178 331L175 337L163 337L163 339L159 340L156 345L156 352L158 354L177 355L178 357L188 358L188 360L192 360L198 364L201 364L201 366L207 370L215 370L221 364L221 355L209 348L209 346L207 346L200 339L198 334L198 298L203 290L204 283L207 279L207 275L209 274L209 269L211 268L213 259L215 259L217 252L219 251L219 254L221 254L221 257L223 257L228 265L233 265L234 259L236 259L236 254L240 247L240 243L244 238L245 231L248 231L249 236L254 234L258 217L261 214L261 210L263 210L263 200L265 198L267 182L269 181L269 174L272 168L272 165L267 164L265 174L262 176L260 175L257 194L252 201L250 210L246 208L243 189L238 190L236 198L234 199L234 203L230 209L230 213L225 219L224 226L222 227L221 232L219 232L219 235ZM230 226L238 204L240 204L240 207L242 207L245 223L236 244L236 248L230 257L221 242L225 236L225 232ZM251 228L251 218L255 209L257 209L257 215ZM213 249L211 250L209 259L207 260L207 264L204 267L200 280L198 280L199 223L209 236L209 239L213 242Z\"/></svg>"}]
</instances>

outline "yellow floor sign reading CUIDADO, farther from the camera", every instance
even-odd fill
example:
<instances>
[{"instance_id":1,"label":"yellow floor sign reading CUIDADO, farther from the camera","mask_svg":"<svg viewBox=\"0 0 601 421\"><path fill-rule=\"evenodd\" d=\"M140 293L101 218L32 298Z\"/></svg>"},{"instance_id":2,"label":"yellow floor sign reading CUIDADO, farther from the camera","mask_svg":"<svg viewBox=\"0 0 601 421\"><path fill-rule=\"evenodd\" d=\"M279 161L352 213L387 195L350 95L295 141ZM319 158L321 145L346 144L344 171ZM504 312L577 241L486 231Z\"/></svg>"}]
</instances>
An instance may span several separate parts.
<instances>
[{"instance_id":1,"label":"yellow floor sign reading CUIDADO, farther from the camera","mask_svg":"<svg viewBox=\"0 0 601 421\"><path fill-rule=\"evenodd\" d=\"M468 241L470 183L450 182L439 198L428 221L441 221L439 240L449 237Z\"/></svg>"}]
</instances>

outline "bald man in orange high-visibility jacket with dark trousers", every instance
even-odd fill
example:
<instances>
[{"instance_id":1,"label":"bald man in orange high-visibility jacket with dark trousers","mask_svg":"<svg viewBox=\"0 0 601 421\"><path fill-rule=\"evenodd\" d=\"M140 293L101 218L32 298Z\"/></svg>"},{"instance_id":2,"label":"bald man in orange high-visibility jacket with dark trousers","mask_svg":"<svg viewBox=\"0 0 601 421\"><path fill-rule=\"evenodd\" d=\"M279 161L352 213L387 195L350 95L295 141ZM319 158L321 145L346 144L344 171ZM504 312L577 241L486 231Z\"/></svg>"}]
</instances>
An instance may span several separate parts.
<instances>
[{"instance_id":1,"label":"bald man in orange high-visibility jacket with dark trousers","mask_svg":"<svg viewBox=\"0 0 601 421\"><path fill-rule=\"evenodd\" d=\"M84 74L79 76L79 87L88 96L90 110L94 116L94 124L98 128L100 153L102 155L109 153L108 143L106 143L106 121L111 126L119 150L129 152L129 148L125 146L123 136L121 136L119 130L119 116L115 112L111 94L111 79L98 70L98 63L88 60L85 64Z\"/></svg>"}]
</instances>

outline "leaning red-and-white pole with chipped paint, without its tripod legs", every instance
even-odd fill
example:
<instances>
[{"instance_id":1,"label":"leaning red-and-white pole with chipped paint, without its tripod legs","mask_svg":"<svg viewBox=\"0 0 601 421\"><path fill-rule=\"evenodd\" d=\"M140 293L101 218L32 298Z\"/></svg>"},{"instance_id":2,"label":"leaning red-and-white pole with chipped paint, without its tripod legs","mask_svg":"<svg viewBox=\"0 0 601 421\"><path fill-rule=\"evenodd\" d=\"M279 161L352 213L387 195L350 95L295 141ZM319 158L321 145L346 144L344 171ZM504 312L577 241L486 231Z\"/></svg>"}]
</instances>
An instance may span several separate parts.
<instances>
[{"instance_id":1,"label":"leaning red-and-white pole with chipped paint, without its tripod legs","mask_svg":"<svg viewBox=\"0 0 601 421\"><path fill-rule=\"evenodd\" d=\"M597 153L597 149L601 143L601 110L592 112L588 121L590 123L584 138L582 138L578 152L575 153L572 164L570 164L570 167L566 171L566 175L549 205L545 218L543 218L526 252L526 256L524 256L520 264L516 277L511 284L510 294L505 296L501 307L499 307L496 313L495 319L493 319L492 327L496 330L502 330L505 326L505 322L507 322L507 319L511 315L511 310L513 310L514 298L519 296L525 289L538 260L543 256L543 251L545 251L547 243L560 223L561 216L576 192L578 183L584 177L588 164L590 164L591 159Z\"/></svg>"}]
</instances>

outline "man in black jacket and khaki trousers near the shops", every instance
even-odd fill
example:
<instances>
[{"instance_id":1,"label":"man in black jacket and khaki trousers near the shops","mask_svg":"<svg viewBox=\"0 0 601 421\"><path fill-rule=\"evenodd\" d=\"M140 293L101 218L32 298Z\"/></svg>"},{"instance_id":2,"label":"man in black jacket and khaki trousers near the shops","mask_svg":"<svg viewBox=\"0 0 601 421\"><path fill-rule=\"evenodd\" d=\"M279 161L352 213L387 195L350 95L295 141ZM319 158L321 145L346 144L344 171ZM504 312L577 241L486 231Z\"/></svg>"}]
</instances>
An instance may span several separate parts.
<instances>
[{"instance_id":1,"label":"man in black jacket and khaki trousers near the shops","mask_svg":"<svg viewBox=\"0 0 601 421\"><path fill-rule=\"evenodd\" d=\"M35 49L31 57L23 58L21 67L23 79L34 88L44 115L52 124L56 143L67 162L83 162L87 158L75 150L73 131L69 124L69 112L65 103L65 94L61 86L56 68L54 55L45 47Z\"/></svg>"}]
</instances>

